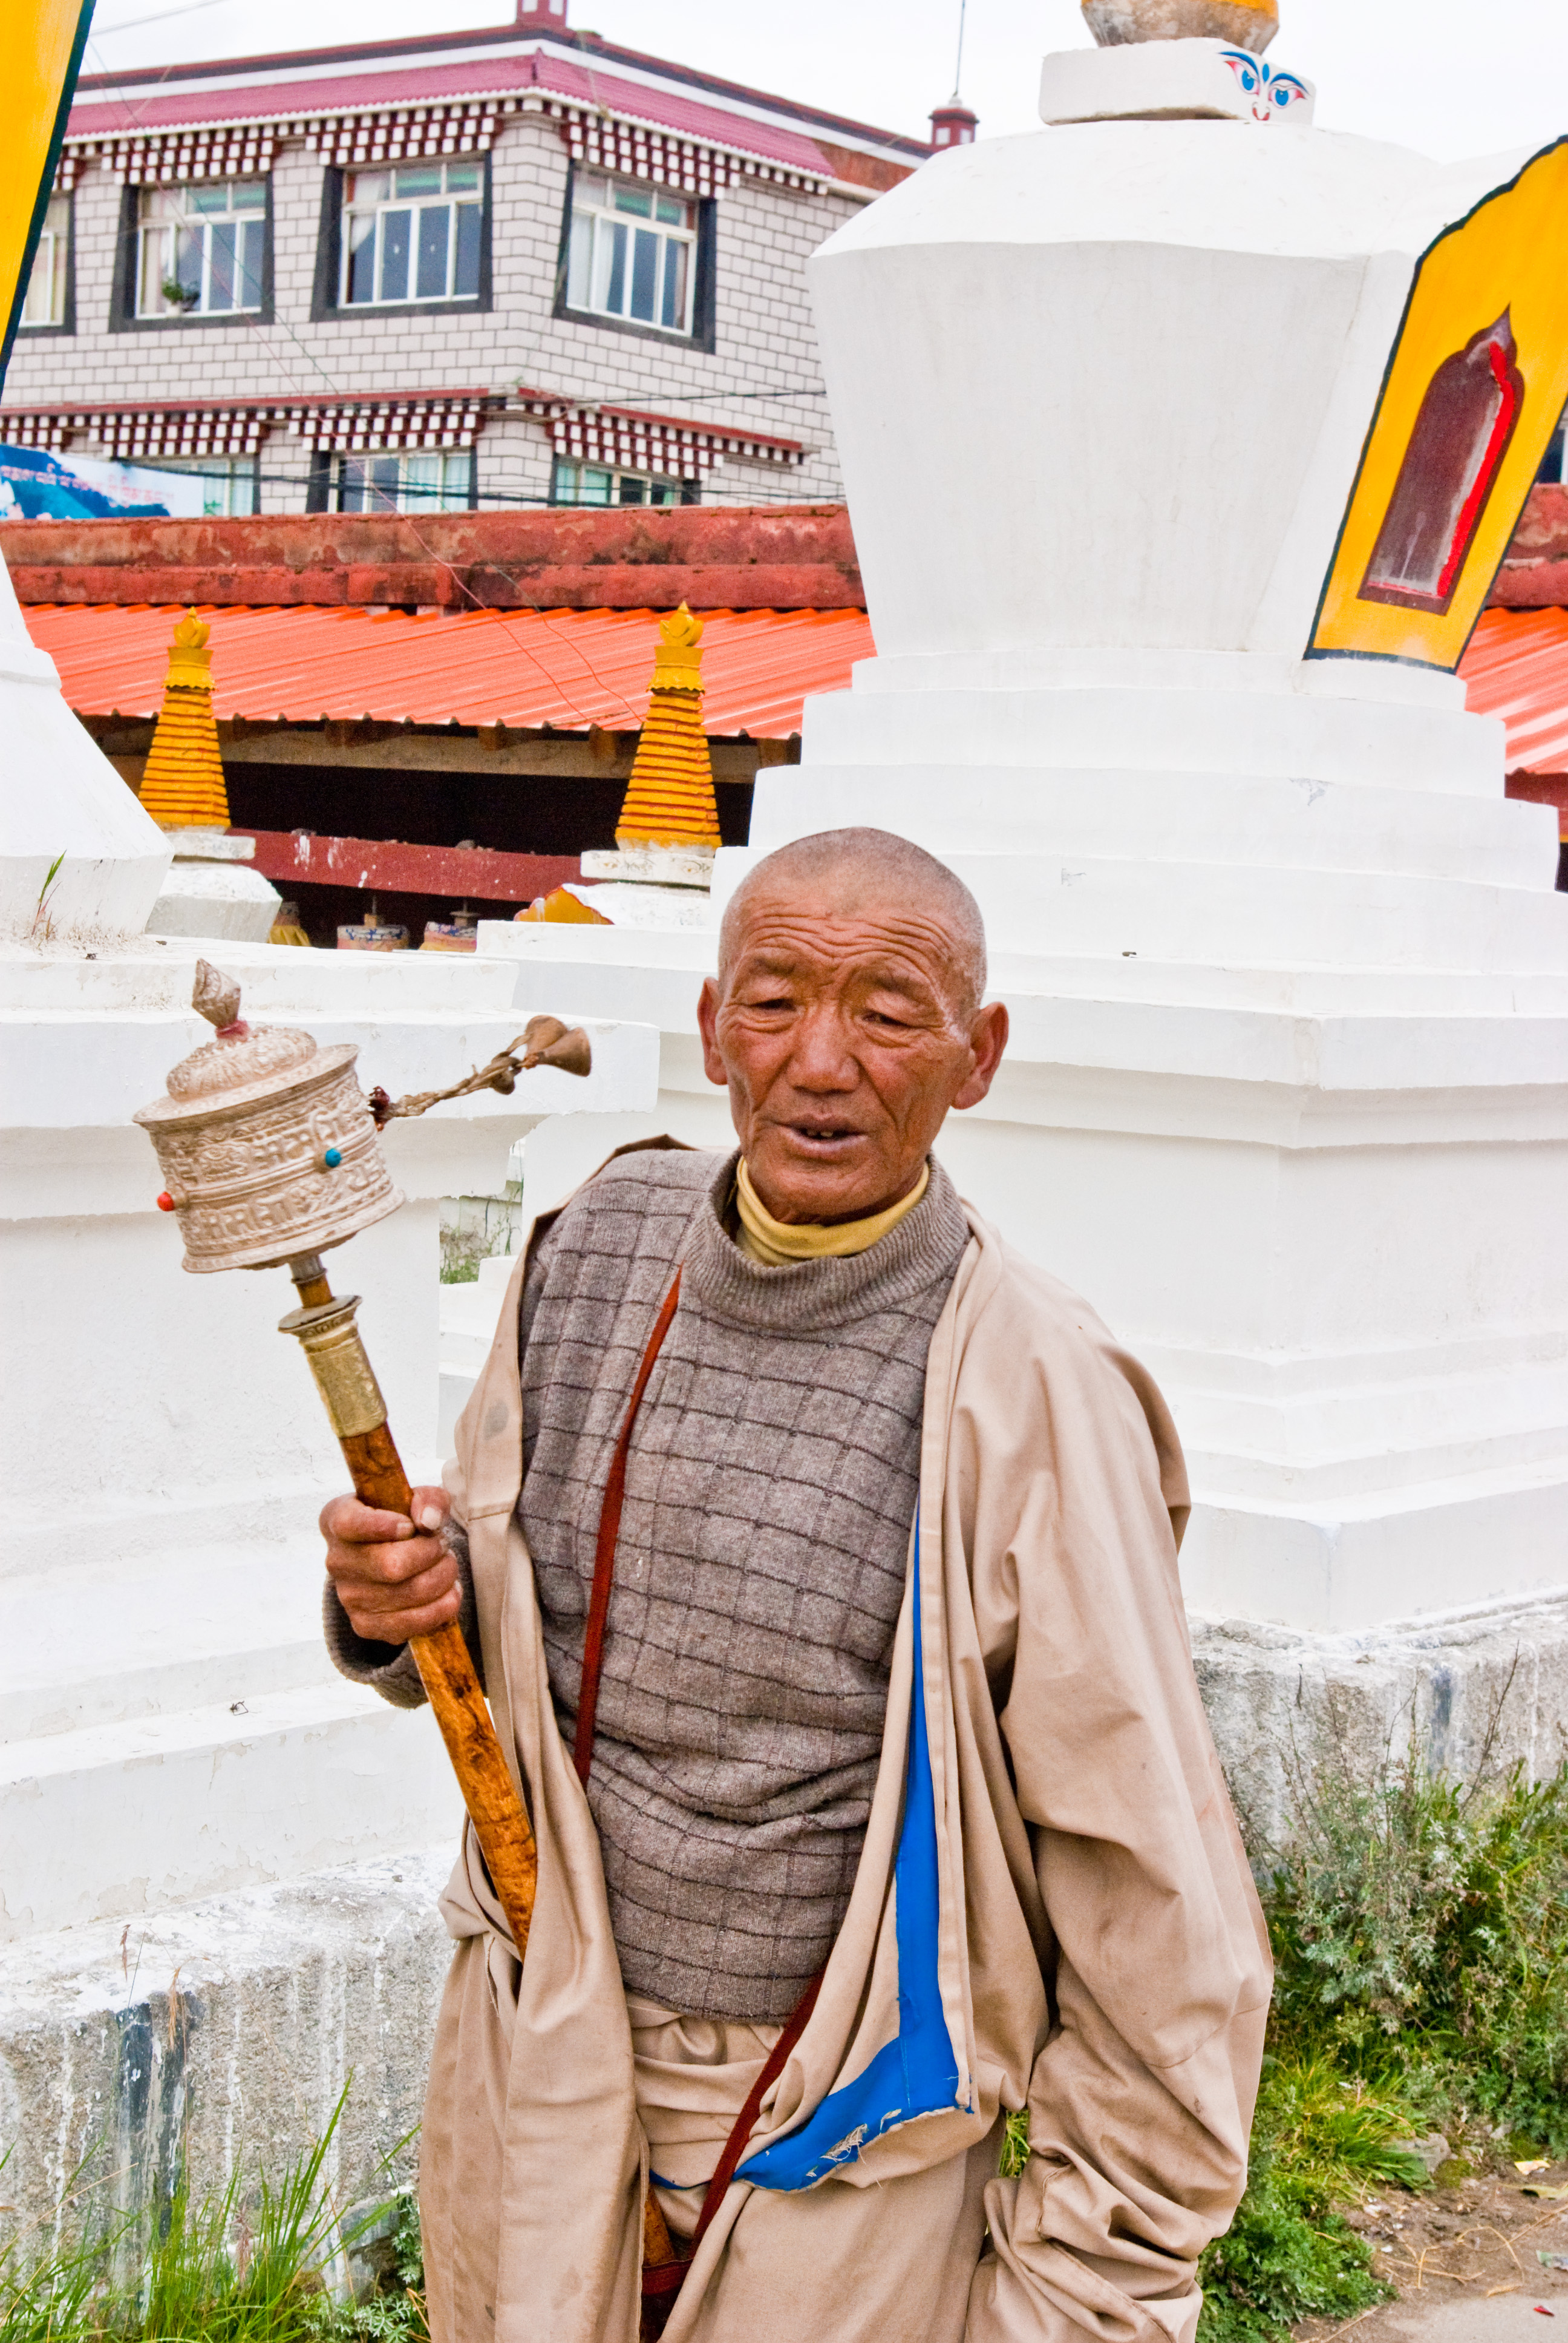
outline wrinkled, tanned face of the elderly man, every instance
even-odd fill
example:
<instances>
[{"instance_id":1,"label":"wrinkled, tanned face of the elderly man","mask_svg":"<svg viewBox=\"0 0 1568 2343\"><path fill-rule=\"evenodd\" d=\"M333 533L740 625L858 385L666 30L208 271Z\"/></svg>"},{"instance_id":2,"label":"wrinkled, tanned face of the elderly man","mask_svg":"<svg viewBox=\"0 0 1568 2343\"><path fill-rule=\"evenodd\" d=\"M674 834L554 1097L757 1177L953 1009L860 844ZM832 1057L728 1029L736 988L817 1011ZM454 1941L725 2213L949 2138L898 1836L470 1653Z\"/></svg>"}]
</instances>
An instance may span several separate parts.
<instances>
[{"instance_id":1,"label":"wrinkled, tanned face of the elderly man","mask_svg":"<svg viewBox=\"0 0 1568 2343\"><path fill-rule=\"evenodd\" d=\"M710 1082L729 1087L776 1221L855 1221L909 1193L949 1106L975 1106L1008 1038L970 1012L940 909L776 881L745 900L724 989L703 984Z\"/></svg>"}]
</instances>

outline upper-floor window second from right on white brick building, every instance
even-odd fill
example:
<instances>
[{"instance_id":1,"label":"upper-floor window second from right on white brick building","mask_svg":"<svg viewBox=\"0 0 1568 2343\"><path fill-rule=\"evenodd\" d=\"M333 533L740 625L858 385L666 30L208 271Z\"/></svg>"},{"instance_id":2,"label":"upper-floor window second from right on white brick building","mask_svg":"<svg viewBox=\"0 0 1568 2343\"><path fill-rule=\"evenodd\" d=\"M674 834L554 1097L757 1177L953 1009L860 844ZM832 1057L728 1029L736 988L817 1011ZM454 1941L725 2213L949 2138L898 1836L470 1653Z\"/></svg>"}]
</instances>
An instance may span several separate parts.
<instances>
[{"instance_id":1,"label":"upper-floor window second from right on white brick building","mask_svg":"<svg viewBox=\"0 0 1568 2343\"><path fill-rule=\"evenodd\" d=\"M478 162L347 171L340 302L478 300L483 218Z\"/></svg>"}]
</instances>

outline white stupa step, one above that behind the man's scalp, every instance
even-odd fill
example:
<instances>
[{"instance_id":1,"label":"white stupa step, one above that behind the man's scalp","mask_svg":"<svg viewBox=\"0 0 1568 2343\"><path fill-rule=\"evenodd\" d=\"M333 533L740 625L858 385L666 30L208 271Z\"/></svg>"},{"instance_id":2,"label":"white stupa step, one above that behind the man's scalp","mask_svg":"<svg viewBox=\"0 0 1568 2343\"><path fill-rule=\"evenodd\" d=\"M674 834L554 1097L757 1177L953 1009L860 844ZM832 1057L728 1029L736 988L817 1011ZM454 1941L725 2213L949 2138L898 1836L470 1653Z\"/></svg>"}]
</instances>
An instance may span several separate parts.
<instances>
[{"instance_id":1,"label":"white stupa step, one above that behind the man's scalp","mask_svg":"<svg viewBox=\"0 0 1568 2343\"><path fill-rule=\"evenodd\" d=\"M1099 766L1502 797L1502 726L1453 708L1109 684L877 691L865 677L806 701L804 766Z\"/></svg>"}]
</instances>

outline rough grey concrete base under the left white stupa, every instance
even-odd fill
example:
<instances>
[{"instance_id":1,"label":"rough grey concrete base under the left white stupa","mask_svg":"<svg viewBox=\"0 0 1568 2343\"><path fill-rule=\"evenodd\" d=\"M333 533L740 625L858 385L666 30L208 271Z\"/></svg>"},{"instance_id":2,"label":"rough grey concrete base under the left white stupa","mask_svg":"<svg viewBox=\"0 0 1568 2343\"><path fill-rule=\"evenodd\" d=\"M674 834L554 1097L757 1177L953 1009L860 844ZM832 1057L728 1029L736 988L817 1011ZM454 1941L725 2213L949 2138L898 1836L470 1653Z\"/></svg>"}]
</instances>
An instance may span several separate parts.
<instances>
[{"instance_id":1,"label":"rough grey concrete base under the left white stupa","mask_svg":"<svg viewBox=\"0 0 1568 2343\"><path fill-rule=\"evenodd\" d=\"M0 1952L0 2238L270 2179L347 2104L323 2181L347 2209L408 2184L452 1954L452 1846L316 1872ZM391 2167L384 2167L391 2158ZM87 2165L73 2191L73 2174Z\"/></svg>"}]
</instances>

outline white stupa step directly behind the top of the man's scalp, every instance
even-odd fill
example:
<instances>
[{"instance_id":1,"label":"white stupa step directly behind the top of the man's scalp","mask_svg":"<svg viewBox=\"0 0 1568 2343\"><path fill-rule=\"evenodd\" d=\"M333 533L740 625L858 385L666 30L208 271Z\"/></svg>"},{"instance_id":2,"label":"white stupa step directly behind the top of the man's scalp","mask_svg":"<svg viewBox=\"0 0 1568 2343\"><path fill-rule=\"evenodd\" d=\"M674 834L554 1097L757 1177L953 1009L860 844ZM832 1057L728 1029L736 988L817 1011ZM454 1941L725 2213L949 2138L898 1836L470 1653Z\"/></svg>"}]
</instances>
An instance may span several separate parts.
<instances>
[{"instance_id":1,"label":"white stupa step directly behind the top of the man's scalp","mask_svg":"<svg viewBox=\"0 0 1568 2343\"><path fill-rule=\"evenodd\" d=\"M759 773L752 853L853 820L900 829L949 860L973 853L1123 855L1331 872L1399 872L1545 888L1556 872L1556 808L1502 797L1427 794L1235 773L1116 771L1059 764L788 766Z\"/></svg>"}]
</instances>

